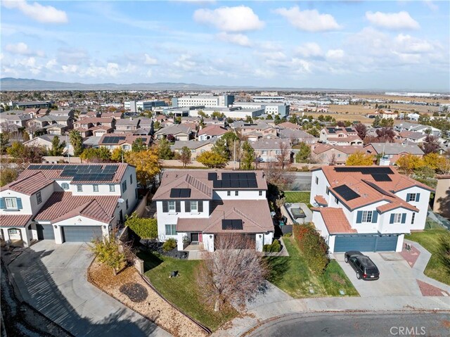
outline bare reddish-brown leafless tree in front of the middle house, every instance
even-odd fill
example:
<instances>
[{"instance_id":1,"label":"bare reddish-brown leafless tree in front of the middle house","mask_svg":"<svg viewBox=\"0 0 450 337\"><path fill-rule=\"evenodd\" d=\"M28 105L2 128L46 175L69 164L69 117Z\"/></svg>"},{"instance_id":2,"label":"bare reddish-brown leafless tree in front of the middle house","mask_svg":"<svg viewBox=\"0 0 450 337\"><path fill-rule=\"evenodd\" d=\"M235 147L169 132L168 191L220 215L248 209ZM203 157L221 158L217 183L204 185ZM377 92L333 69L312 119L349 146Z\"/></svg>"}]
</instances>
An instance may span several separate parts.
<instances>
[{"instance_id":1,"label":"bare reddish-brown leafless tree in front of the middle house","mask_svg":"<svg viewBox=\"0 0 450 337\"><path fill-rule=\"evenodd\" d=\"M204 300L219 311L245 305L264 284L269 268L250 238L237 234L217 236L214 253L205 252L197 283Z\"/></svg>"}]
</instances>

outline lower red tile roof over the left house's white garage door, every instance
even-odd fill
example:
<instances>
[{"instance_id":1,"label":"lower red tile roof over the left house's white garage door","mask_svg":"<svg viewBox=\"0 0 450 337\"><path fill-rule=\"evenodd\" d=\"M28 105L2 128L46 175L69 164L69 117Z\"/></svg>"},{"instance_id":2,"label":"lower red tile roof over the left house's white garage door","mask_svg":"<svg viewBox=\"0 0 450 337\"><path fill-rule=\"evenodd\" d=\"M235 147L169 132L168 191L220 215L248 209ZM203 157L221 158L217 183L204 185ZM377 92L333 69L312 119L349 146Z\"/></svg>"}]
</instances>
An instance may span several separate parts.
<instances>
[{"instance_id":1,"label":"lower red tile roof over the left house's white garage door","mask_svg":"<svg viewBox=\"0 0 450 337\"><path fill-rule=\"evenodd\" d=\"M113 220L118 196L73 196L71 192L55 192L34 220L52 223L82 215L109 224Z\"/></svg>"}]
</instances>

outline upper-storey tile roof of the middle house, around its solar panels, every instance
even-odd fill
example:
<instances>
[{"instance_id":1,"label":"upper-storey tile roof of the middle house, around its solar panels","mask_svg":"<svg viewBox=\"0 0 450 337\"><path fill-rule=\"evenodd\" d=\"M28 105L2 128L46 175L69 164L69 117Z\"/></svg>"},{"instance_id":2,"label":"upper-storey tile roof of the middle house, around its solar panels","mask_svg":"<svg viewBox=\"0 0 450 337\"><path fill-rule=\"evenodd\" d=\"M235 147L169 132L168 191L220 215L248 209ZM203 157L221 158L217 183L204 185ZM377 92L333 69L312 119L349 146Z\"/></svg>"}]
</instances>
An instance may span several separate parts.
<instances>
[{"instance_id":1,"label":"upper-storey tile roof of the middle house, around its solar panels","mask_svg":"<svg viewBox=\"0 0 450 337\"><path fill-rule=\"evenodd\" d=\"M221 179L223 172L230 172L226 170L173 170L166 171L162 177L160 187L153 196L153 200L169 200L171 189L191 189L190 199L211 199L213 191L213 182L208 180L208 173L216 172ZM263 177L262 171L233 171L233 173L248 173L255 172L257 187L256 188L239 188L244 189L267 189L266 179ZM235 188L229 188L236 190ZM219 190L226 190L221 188Z\"/></svg>"}]
</instances>

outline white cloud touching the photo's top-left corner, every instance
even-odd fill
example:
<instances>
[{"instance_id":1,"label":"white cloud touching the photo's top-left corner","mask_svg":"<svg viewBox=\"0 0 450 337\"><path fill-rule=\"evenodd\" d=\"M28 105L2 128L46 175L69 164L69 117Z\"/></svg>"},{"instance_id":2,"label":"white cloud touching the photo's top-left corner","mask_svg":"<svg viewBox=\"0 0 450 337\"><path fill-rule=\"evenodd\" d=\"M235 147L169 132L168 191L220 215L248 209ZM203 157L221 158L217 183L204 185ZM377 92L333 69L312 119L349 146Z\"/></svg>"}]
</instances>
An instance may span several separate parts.
<instances>
[{"instance_id":1,"label":"white cloud touching the photo's top-left corner","mask_svg":"<svg viewBox=\"0 0 450 337\"><path fill-rule=\"evenodd\" d=\"M53 6L42 6L37 2L28 4L26 0L1 1L6 8L17 8L27 17L39 23L68 23L68 15Z\"/></svg>"}]
</instances>

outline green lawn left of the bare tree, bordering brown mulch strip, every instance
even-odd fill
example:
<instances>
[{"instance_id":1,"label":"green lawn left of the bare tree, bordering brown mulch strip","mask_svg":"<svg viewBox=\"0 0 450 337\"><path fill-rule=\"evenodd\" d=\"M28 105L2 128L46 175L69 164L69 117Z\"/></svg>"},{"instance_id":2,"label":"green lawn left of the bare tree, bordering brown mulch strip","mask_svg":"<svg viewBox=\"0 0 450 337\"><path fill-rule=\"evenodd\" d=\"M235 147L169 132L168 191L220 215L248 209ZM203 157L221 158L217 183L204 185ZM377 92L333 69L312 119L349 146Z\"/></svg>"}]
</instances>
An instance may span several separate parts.
<instances>
[{"instance_id":1,"label":"green lawn left of the bare tree, bordering brown mulch strip","mask_svg":"<svg viewBox=\"0 0 450 337\"><path fill-rule=\"evenodd\" d=\"M153 286L169 302L212 331L238 315L236 310L214 312L212 307L203 303L195 284L195 269L200 261L178 260L144 252L138 253L138 256L144 261L145 274ZM169 279L174 270L178 270L180 276Z\"/></svg>"}]
</instances>

